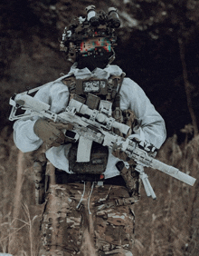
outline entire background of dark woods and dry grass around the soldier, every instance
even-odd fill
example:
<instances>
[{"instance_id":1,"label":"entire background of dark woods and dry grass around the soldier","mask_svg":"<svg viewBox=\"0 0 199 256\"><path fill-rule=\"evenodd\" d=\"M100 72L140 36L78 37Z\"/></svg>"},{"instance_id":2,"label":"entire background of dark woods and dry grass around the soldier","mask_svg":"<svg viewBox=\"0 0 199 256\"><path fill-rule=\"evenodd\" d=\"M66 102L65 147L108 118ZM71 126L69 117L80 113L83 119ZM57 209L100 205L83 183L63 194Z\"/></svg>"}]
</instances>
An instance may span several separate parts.
<instances>
[{"instance_id":1,"label":"entire background of dark woods and dry grass around the soldier","mask_svg":"<svg viewBox=\"0 0 199 256\"><path fill-rule=\"evenodd\" d=\"M194 0L10 0L0 4L2 36L0 133L0 251L36 256L43 205L35 205L33 158L15 147L7 120L9 97L67 73L59 40L71 15L87 5L118 8L118 64L166 120L168 138L157 158L198 179L198 27ZM58 40L59 38L59 40ZM121 47L122 45L122 47ZM198 256L198 181L193 188L147 170L157 200L135 205L137 256Z\"/></svg>"}]
</instances>

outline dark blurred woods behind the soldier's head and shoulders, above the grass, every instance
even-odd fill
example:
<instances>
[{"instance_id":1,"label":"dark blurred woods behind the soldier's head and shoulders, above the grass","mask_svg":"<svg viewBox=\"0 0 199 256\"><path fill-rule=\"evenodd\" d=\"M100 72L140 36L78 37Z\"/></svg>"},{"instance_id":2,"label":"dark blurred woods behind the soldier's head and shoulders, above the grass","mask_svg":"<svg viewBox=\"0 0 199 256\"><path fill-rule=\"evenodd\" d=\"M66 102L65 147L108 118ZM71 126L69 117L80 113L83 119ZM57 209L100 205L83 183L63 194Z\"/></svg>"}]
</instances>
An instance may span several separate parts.
<instances>
[{"instance_id":1,"label":"dark blurred woods behind the soldier's head and shoulders, above the grass","mask_svg":"<svg viewBox=\"0 0 199 256\"><path fill-rule=\"evenodd\" d=\"M70 64L59 51L65 25L85 6L118 8L118 64L139 84L166 121L167 135L184 135L192 123L178 39L185 48L191 107L198 120L198 9L196 1L8 1L1 4L1 128L11 126L9 97L66 74ZM198 123L198 121L196 121Z\"/></svg>"}]
</instances>

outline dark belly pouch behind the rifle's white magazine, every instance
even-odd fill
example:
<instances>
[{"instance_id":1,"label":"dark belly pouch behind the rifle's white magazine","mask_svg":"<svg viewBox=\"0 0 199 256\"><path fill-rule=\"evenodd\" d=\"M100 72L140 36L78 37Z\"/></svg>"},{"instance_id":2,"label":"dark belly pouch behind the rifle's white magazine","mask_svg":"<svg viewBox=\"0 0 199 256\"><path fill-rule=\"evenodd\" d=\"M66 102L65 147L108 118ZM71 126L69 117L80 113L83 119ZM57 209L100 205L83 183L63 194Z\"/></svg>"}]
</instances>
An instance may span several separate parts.
<instances>
[{"instance_id":1,"label":"dark belly pouch behind the rifle's white magazine","mask_svg":"<svg viewBox=\"0 0 199 256\"><path fill-rule=\"evenodd\" d=\"M109 150L99 143L92 143L90 162L76 162L78 143L71 145L68 154L69 168L72 172L101 174L105 172L108 162Z\"/></svg>"}]
</instances>

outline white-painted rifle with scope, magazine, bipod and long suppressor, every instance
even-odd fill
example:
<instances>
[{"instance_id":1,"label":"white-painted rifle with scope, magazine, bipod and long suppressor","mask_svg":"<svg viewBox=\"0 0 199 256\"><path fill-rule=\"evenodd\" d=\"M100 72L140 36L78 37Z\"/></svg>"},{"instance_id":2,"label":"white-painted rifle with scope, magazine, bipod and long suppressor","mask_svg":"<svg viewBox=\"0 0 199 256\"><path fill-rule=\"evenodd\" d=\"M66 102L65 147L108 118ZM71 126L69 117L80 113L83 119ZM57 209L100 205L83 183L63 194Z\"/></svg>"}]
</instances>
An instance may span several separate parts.
<instances>
[{"instance_id":1,"label":"white-painted rifle with scope, magazine, bipod and long suppressor","mask_svg":"<svg viewBox=\"0 0 199 256\"><path fill-rule=\"evenodd\" d=\"M147 174L144 172L144 167L150 167L165 172L181 182L185 182L191 186L194 185L195 179L192 176L185 172L181 172L171 165L156 160L153 156L147 153L146 146L144 150L136 140L125 139L122 136L113 133L112 128L117 128L121 133L128 134L130 127L124 123L118 123L110 116L111 103L108 101L101 100L100 110L98 111L90 109L88 105L84 103L71 99L64 112L58 114L52 113L49 104L43 103L29 95L34 91L39 90L41 87L42 86L22 94L14 94L14 96L10 98L10 104L13 106L9 116L10 121L39 116L50 119L55 123L71 123L73 125L72 139L74 141L79 140L77 162L90 161L92 142L108 146L111 150L119 148L122 152L128 155L129 159L133 159L134 162L137 163L135 169L140 173L140 178L144 184L147 196L151 196L153 199L156 199L156 194L148 181ZM16 111L18 109L24 110L25 113L17 115ZM148 146L151 145L149 143L147 144Z\"/></svg>"}]
</instances>

